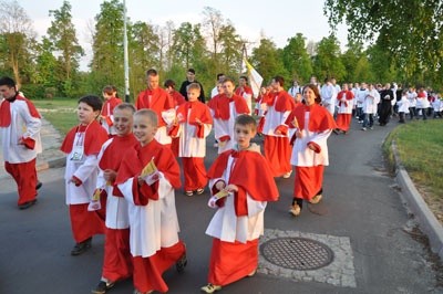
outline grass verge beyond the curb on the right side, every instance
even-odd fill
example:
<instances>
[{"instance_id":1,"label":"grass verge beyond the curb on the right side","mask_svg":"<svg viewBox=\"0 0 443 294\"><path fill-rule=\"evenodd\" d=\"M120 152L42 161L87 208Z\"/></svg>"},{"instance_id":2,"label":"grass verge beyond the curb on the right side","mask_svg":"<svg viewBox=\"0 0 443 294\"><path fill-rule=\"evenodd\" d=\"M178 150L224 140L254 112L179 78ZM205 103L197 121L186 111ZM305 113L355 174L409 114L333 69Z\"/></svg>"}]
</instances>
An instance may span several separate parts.
<instances>
[{"instance_id":1,"label":"grass verge beyond the curb on the right side","mask_svg":"<svg viewBox=\"0 0 443 294\"><path fill-rule=\"evenodd\" d=\"M392 140L395 141L402 165L423 193L430 208L442 207L443 120L432 118L426 122L416 120L395 128L383 145L391 167L393 166L390 148Z\"/></svg>"}]
</instances>

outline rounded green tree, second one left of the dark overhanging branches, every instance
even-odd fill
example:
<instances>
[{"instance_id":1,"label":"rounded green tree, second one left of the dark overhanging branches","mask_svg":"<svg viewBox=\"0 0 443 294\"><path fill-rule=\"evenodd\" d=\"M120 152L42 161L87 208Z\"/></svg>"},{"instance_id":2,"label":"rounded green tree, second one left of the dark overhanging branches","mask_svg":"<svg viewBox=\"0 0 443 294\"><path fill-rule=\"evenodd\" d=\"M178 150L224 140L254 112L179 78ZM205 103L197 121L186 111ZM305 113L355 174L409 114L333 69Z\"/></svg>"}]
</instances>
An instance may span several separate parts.
<instances>
[{"instance_id":1,"label":"rounded green tree, second one left of the dark overhanging branches","mask_svg":"<svg viewBox=\"0 0 443 294\"><path fill-rule=\"evenodd\" d=\"M312 64L305 41L301 33L288 39L288 44L282 50L282 60L289 75L306 83L312 75Z\"/></svg>"}]
</instances>

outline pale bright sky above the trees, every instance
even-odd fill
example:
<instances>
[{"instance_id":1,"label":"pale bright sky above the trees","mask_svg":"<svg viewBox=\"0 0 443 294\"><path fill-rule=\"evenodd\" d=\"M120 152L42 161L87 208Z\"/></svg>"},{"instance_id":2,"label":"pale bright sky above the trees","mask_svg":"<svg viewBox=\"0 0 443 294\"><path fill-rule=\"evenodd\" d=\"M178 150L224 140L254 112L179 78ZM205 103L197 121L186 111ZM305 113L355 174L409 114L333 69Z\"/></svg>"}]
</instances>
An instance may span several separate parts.
<instances>
[{"instance_id":1,"label":"pale bright sky above the trees","mask_svg":"<svg viewBox=\"0 0 443 294\"><path fill-rule=\"evenodd\" d=\"M59 10L63 0L18 0L34 24L39 36L47 34L51 25L50 10ZM85 70L91 60L91 25L100 12L103 0L70 0L72 19L80 44L86 56L81 62ZM123 2L123 0L122 0ZM218 10L225 20L229 20L237 33L253 42L248 48L259 43L264 34L272 40L277 48L284 48L287 40L302 33L307 41L319 42L330 34L328 19L323 15L323 0L126 0L127 17L132 22L145 21L163 27L173 21L177 28L182 22L198 23L204 19L205 7ZM347 43L346 25L336 32L342 50ZM250 53L250 52L248 52Z\"/></svg>"}]
</instances>

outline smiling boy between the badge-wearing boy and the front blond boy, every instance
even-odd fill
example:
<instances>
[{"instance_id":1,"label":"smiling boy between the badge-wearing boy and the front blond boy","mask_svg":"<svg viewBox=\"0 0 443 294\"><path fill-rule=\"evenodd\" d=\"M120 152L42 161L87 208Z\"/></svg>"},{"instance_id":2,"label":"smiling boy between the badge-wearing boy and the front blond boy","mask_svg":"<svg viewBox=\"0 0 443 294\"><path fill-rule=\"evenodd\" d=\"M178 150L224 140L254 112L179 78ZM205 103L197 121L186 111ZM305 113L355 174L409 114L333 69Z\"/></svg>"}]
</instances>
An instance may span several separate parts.
<instances>
[{"instance_id":1,"label":"smiling boy between the badge-wearing boy and the front blond boy","mask_svg":"<svg viewBox=\"0 0 443 294\"><path fill-rule=\"evenodd\" d=\"M99 154L100 171L95 191L105 195L106 231L102 279L92 291L95 294L106 293L116 281L132 275L128 208L115 185L115 179L125 151L138 144L132 134L134 113L135 107L128 103L119 104L114 108L116 135L103 144Z\"/></svg>"}]
</instances>

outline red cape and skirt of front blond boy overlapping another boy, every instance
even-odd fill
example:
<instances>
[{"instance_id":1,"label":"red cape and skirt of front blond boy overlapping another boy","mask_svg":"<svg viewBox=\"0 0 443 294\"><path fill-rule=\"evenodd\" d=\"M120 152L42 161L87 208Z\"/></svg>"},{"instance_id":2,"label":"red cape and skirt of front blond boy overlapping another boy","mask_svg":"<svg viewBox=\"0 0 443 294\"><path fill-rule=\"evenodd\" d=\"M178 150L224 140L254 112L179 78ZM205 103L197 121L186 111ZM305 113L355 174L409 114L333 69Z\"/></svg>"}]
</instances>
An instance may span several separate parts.
<instances>
[{"instance_id":1,"label":"red cape and skirt of front blond boy overlapping another boy","mask_svg":"<svg viewBox=\"0 0 443 294\"><path fill-rule=\"evenodd\" d=\"M143 147L136 145L125 154L119 170L116 183L123 183L133 177L136 179L152 158L154 158L154 164L157 169L164 174L173 188L178 189L181 187L179 166L172 150L161 145L155 139ZM148 201L159 199L158 181L152 186L144 182L138 187L137 180L134 180L132 191L136 206L146 206ZM145 240L145 242L152 242L152 240ZM141 292L148 292L152 290L162 293L167 292L168 287L162 274L174 265L185 252L185 244L178 241L172 246L161 248L154 255L148 258L133 256L133 281L135 288Z\"/></svg>"}]
</instances>

